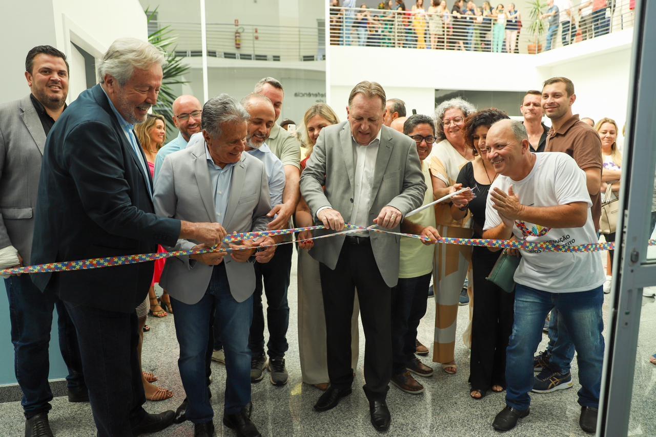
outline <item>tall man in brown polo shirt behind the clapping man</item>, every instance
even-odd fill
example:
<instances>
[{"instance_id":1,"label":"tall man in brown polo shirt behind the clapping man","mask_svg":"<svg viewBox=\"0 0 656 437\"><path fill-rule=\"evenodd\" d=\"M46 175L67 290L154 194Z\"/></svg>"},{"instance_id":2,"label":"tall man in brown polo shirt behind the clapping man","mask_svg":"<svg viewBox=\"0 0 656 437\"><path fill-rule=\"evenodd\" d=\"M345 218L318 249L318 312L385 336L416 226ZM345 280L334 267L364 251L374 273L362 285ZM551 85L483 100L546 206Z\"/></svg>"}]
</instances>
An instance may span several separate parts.
<instances>
[{"instance_id":1,"label":"tall man in brown polo shirt behind the clapping man","mask_svg":"<svg viewBox=\"0 0 656 437\"><path fill-rule=\"evenodd\" d=\"M585 172L592 200L592 221L599 231L602 215L602 142L593 128L580 121L579 115L572 114L571 106L575 100L574 84L566 77L552 77L544 81L542 107L552 123L544 151L567 153ZM567 329L562 324L558 328L558 312L554 310L549 321L549 345L546 351L535 356L533 362L534 370L540 371L533 381L533 391L548 393L572 387L569 365L573 357L574 344Z\"/></svg>"}]
</instances>

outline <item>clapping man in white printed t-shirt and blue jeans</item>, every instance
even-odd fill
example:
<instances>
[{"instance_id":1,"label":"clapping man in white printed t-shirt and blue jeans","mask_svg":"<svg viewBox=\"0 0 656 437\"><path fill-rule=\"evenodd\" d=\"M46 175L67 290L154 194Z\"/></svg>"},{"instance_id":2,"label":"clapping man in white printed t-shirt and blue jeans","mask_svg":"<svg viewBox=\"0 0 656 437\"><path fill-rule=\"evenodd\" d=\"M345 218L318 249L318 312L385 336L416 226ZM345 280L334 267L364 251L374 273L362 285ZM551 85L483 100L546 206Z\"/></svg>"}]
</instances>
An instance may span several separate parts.
<instances>
[{"instance_id":1,"label":"clapping man in white printed t-shirt and blue jeans","mask_svg":"<svg viewBox=\"0 0 656 437\"><path fill-rule=\"evenodd\" d=\"M531 153L520 121L490 128L487 156L499 177L492 183L483 238L578 246L597 242L585 173L565 153ZM558 309L579 360L579 425L594 432L604 359L602 286L598 252L531 253L522 250L515 272L515 316L507 349L506 408L493 427L510 430L529 414L533 353L542 339L546 314Z\"/></svg>"}]
</instances>

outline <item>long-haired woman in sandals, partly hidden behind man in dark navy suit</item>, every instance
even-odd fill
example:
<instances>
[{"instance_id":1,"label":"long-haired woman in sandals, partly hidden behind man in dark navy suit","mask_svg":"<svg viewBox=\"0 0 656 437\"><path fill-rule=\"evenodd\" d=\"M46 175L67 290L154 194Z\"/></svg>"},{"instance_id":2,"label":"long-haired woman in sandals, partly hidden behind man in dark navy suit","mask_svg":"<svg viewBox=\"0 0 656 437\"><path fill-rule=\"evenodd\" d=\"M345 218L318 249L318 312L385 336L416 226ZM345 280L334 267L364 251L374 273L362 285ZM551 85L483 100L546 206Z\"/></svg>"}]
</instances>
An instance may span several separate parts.
<instances>
[{"instance_id":1,"label":"long-haired woman in sandals, partly hidden behind man in dark navy suit","mask_svg":"<svg viewBox=\"0 0 656 437\"><path fill-rule=\"evenodd\" d=\"M166 122L164 117L159 114L148 114L146 121L144 123L137 124L134 128L136 133L136 138L139 140L139 144L146 155L146 162L148 163L148 170L150 171L150 177L154 176L155 172L155 155L157 151L161 149L166 141ZM162 246L157 246L157 252L164 252ZM159 259L155 261L155 273L153 275L152 284L150 284L150 289L148 290L148 296L146 300L136 307L136 316L139 320L139 344L138 344L138 356L139 356L139 366L141 366L141 350L144 343L144 330L150 330L146 327L146 316L148 316L148 308L150 306L150 313L157 317L164 317L167 315L159 302L157 297L155 297L155 282L159 282L159 276L164 269L164 259ZM148 299L150 298L150 304L148 305ZM146 394L146 399L148 400L166 400L173 397L173 392L167 389L161 389L154 385L154 381L157 381L157 377L149 372L142 371L142 384L144 385L144 394Z\"/></svg>"}]
</instances>

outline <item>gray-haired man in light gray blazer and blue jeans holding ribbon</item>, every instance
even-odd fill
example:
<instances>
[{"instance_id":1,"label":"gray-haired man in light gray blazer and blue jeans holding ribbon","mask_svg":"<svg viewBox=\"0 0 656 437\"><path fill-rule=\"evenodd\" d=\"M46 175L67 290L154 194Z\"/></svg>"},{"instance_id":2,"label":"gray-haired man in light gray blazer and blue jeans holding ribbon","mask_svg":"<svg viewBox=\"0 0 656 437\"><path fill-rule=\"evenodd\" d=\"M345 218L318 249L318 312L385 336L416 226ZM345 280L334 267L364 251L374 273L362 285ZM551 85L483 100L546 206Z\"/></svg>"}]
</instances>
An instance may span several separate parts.
<instances>
[{"instance_id":1,"label":"gray-haired man in light gray blazer and blue jeans holding ribbon","mask_svg":"<svg viewBox=\"0 0 656 437\"><path fill-rule=\"evenodd\" d=\"M264 164L245 149L249 113L234 98L221 94L203 106L205 141L164 159L155 185L159 216L220 223L228 233L265 231L271 219L268 178ZM199 195L200 194L200 195ZM246 250L214 252L167 261L161 284L171 294L180 343L178 367L187 394L186 418L195 436L212 436L213 409L205 381L208 329L214 320L226 353L226 398L223 423L239 436L259 436L250 419L251 351L255 269L275 248L255 254L256 246L273 244L270 237L245 240ZM236 249L234 244L230 248ZM175 250L204 247L180 239ZM255 256L253 256L255 254Z\"/></svg>"}]
</instances>

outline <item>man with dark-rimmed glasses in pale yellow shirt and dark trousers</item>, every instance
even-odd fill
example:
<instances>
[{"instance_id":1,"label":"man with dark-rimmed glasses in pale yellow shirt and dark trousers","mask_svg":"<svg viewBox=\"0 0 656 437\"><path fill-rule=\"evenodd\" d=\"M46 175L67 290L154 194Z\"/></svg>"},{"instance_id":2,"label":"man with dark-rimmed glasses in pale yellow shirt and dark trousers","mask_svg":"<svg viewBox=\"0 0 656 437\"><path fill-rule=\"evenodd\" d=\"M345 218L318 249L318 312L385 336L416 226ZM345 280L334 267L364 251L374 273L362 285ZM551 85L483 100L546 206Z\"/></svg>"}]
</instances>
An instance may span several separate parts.
<instances>
[{"instance_id":1,"label":"man with dark-rimmed glasses in pale yellow shirt and dark trousers","mask_svg":"<svg viewBox=\"0 0 656 437\"><path fill-rule=\"evenodd\" d=\"M428 115L411 115L403 124L403 133L415 141L424 182L429 186L430 171L424 161L435 142L435 124ZM433 201L432 190L427 189L424 205ZM392 384L400 390L419 394L424 391L411 374L421 377L433 375L433 369L423 364L417 356L417 326L426 314L426 290L433 271L434 246L440 238L435 229L435 210L426 208L412 218L403 220L401 232L425 235L431 242L414 238L402 238L399 282L392 288ZM423 244L422 244L423 243Z\"/></svg>"}]
</instances>

